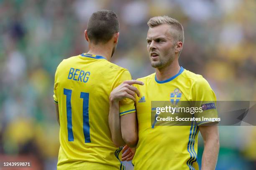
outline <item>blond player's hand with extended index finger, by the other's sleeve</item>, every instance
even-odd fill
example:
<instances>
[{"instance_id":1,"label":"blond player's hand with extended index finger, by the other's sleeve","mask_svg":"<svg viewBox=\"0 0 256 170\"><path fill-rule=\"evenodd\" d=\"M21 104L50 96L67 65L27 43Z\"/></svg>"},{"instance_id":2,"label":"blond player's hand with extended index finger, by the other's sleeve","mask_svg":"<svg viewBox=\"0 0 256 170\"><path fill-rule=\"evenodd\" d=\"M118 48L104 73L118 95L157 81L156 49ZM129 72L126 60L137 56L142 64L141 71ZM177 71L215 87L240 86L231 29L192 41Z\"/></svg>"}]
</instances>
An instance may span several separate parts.
<instances>
[{"instance_id":1,"label":"blond player's hand with extended index finger, by the other's sleeve","mask_svg":"<svg viewBox=\"0 0 256 170\"><path fill-rule=\"evenodd\" d=\"M116 87L111 93L110 93L110 101L120 101L124 98L129 98L131 100L135 101L135 94L137 94L138 97L140 97L140 92L136 87L133 87L132 85L144 85L143 82L138 80L127 80L124 81L122 84L120 84L118 87Z\"/></svg>"}]
</instances>

